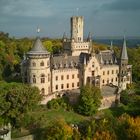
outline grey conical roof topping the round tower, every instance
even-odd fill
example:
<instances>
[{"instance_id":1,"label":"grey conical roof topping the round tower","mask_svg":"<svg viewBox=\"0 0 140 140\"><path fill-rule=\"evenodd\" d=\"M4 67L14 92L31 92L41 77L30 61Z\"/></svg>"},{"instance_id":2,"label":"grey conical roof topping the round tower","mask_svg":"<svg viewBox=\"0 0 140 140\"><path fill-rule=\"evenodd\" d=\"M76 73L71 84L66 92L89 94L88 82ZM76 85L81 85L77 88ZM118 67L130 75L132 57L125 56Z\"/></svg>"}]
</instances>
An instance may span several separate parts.
<instances>
[{"instance_id":1,"label":"grey conical roof topping the round tower","mask_svg":"<svg viewBox=\"0 0 140 140\"><path fill-rule=\"evenodd\" d=\"M40 38L37 37L32 49L27 54L49 54L49 52L44 48L42 42L40 41Z\"/></svg>"}]
</instances>

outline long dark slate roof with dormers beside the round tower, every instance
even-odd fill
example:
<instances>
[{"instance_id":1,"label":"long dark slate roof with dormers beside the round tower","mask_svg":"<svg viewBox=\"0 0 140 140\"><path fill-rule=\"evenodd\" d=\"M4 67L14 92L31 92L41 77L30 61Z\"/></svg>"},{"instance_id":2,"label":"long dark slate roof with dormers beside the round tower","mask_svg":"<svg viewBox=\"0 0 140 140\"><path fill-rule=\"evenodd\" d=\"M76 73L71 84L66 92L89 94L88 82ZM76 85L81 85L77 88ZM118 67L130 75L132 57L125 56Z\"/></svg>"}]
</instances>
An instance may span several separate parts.
<instances>
[{"instance_id":1,"label":"long dark slate roof with dormers beside the round tower","mask_svg":"<svg viewBox=\"0 0 140 140\"><path fill-rule=\"evenodd\" d=\"M78 68L78 64L78 56L54 56L52 58L52 67L54 69Z\"/></svg>"}]
</instances>

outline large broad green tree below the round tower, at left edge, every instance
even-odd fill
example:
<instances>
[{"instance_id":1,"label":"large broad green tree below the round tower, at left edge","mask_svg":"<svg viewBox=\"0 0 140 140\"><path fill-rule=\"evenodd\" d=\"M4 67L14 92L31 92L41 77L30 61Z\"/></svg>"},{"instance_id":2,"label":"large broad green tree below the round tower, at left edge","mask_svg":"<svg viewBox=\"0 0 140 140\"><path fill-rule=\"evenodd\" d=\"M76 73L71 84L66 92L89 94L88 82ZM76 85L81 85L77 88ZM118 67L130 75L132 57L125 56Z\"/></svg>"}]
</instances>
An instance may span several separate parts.
<instances>
[{"instance_id":1,"label":"large broad green tree below the round tower, at left edge","mask_svg":"<svg viewBox=\"0 0 140 140\"><path fill-rule=\"evenodd\" d=\"M19 83L0 83L0 117L18 127L24 115L35 108L42 96L38 88Z\"/></svg>"}]
</instances>

